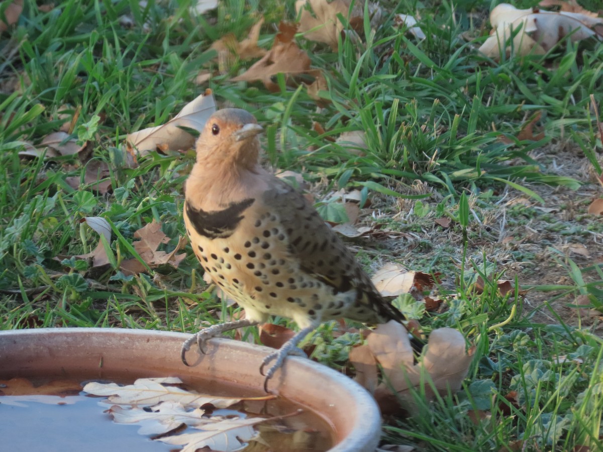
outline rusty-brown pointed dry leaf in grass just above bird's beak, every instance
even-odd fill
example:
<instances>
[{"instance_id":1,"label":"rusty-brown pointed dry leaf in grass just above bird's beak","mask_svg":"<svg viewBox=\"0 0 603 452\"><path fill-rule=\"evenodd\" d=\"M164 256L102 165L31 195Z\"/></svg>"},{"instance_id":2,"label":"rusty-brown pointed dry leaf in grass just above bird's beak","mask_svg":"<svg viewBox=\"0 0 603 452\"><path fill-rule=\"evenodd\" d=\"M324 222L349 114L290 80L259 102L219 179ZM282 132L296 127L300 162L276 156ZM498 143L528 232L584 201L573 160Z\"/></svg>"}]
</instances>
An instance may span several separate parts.
<instances>
[{"instance_id":1,"label":"rusty-brown pointed dry leaf in grass just above bird's beak","mask_svg":"<svg viewBox=\"0 0 603 452\"><path fill-rule=\"evenodd\" d=\"M232 80L261 80L268 90L276 92L280 89L271 80L273 75L279 73L292 75L311 72L308 54L298 48L293 40L296 30L295 24L280 22L279 33L274 37L274 43L270 52L264 55L262 59L256 61L246 72Z\"/></svg>"}]
</instances>

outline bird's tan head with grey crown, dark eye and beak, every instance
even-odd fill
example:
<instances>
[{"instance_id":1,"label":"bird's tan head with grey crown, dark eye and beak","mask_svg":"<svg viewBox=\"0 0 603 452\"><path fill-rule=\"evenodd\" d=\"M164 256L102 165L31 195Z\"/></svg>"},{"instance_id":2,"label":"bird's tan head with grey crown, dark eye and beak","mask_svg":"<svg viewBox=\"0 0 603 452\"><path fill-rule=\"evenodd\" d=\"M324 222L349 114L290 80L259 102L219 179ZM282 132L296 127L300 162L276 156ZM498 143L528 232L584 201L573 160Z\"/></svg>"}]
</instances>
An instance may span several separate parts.
<instances>
[{"instance_id":1,"label":"bird's tan head with grey crown, dark eye and beak","mask_svg":"<svg viewBox=\"0 0 603 452\"><path fill-rule=\"evenodd\" d=\"M207 120L197 140L197 162L253 169L257 165L262 126L240 108L223 108Z\"/></svg>"}]
</instances>

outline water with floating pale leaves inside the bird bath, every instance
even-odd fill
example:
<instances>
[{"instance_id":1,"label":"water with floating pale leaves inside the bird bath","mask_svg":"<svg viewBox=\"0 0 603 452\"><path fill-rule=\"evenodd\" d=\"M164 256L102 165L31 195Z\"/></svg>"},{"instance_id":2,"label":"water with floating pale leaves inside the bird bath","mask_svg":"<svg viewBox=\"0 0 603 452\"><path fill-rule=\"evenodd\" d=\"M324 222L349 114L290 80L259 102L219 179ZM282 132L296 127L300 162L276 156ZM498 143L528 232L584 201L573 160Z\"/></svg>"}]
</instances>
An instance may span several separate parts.
<instances>
[{"instance_id":1,"label":"water with floating pale leaves inside the bird bath","mask_svg":"<svg viewBox=\"0 0 603 452\"><path fill-rule=\"evenodd\" d=\"M43 448L45 452L152 452L181 450L186 447L194 451L204 445L213 445L213 450L222 451L321 452L333 445L335 435L327 422L283 398L241 400L228 408L214 409L213 404L221 406L223 403L221 398L241 398L242 394L238 388L213 385L211 397L215 398L214 403L207 404L205 399L198 401L204 410L195 410L195 403L186 409L182 406L180 409L175 409L174 405L168 406L168 400L169 403L178 400L177 394L175 398L167 397L158 404L152 401L151 406L145 406L142 402L117 405L106 397L95 397L83 392L84 384L89 383L84 378L0 380L2 450L31 451ZM146 380L142 383L137 380L134 386L124 386L134 382L123 378L111 380L119 381L121 388L127 388L121 394L125 398L141 388L143 392L154 391L156 388L153 384L158 381L153 380L147 384ZM101 383L110 382L103 380ZM179 391L189 389L207 394L205 385L200 381L191 383L191 386L171 383L163 386L170 395L181 394ZM112 391L109 389L109 392ZM239 394L235 394L237 392ZM153 395L156 395L155 392ZM162 406L163 408L158 408ZM113 421L116 413L122 416L122 423ZM165 427L163 430L167 428L167 432L159 433L162 432L161 426L157 428L159 419L165 420L170 416L170 426L174 428ZM198 418L194 418L195 416ZM118 416L115 417L118 419ZM226 423L219 424L221 421ZM241 421L242 424L237 424ZM243 425L246 422L247 425ZM169 442L166 444L164 441Z\"/></svg>"}]
</instances>

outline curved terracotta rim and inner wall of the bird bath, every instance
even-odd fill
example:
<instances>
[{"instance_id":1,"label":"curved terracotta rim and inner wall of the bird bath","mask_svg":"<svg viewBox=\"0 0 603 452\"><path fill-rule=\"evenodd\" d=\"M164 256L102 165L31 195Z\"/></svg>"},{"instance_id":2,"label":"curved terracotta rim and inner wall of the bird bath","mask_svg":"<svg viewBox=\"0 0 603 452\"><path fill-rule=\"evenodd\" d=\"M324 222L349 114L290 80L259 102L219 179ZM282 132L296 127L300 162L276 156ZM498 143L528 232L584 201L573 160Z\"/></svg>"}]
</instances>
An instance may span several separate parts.
<instances>
[{"instance_id":1,"label":"curved terracotta rim and inner wall of the bird bath","mask_svg":"<svg viewBox=\"0 0 603 452\"><path fill-rule=\"evenodd\" d=\"M122 328L37 328L0 331L0 379L70 376L114 380L180 377L203 382L211 394L227 385L238 394L261 395L259 366L273 349L211 339L207 354L196 347L180 360L189 334ZM268 384L282 397L312 410L333 428L330 451L373 451L380 436L380 414L373 398L350 378L300 357L289 357ZM1 401L1 397L0 397Z\"/></svg>"}]
</instances>

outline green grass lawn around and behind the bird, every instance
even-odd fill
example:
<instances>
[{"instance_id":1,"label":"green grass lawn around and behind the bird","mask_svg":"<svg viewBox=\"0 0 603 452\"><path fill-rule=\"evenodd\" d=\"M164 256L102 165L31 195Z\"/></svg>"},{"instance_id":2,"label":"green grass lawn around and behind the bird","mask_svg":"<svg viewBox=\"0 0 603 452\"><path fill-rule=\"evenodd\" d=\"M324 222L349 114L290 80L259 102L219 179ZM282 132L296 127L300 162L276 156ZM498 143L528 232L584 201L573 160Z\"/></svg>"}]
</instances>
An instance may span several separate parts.
<instances>
[{"instance_id":1,"label":"green grass lawn around and behind the bird","mask_svg":"<svg viewBox=\"0 0 603 452\"><path fill-rule=\"evenodd\" d=\"M458 328L476 345L464 388L433 403L425 403L418 391L414 415L388 419L384 441L418 444L420 450L602 447L601 339L567 324L554 310L554 324L533 321L535 309L523 306L521 297L502 297L494 284L477 295L466 281L480 272L504 277L497 266L479 262L496 262L484 251L497 240L486 229L487 216L507 190L539 202L541 184L560 190L581 186L535 157L538 151L569 139L601 174L593 102L600 108L603 101L603 46L564 41L546 57L495 63L475 51L488 30L482 20L495 2L385 2L388 13L418 11L427 39L417 42L391 20L371 30L368 17L364 37L344 40L337 52L298 36L298 45L327 80L328 89L321 92L325 106L317 108L305 87L289 87L282 76L276 77L280 90L274 93L260 83L230 81L252 62L236 59L230 67L218 67L215 52L208 50L227 33L243 39L261 16L259 43L270 48L279 21L294 19L292 1L241 6L224 0L200 17L189 16L186 0L149 1L145 8L134 0L84 3L59 0L44 13L25 0L16 28L0 36L0 329L196 331L232 314L235 308L203 283L190 247L177 269L160 266L127 276L119 266L138 257L133 234L144 225L162 223L170 239L166 251L185 235L182 184L194 162L193 152L152 152L129 168L125 134L163 124L209 86L219 106L245 108L264 125L268 164L320 183L324 216L337 215L337 207L330 209L330 190L357 187L376 201L365 211L377 212L375 222L420 237L414 251L406 250L402 239L395 245L355 240L361 248L379 248L359 255L367 270L375 260L397 259L455 281L441 288L448 309L427 314L421 323L426 331ZM131 27L120 24L124 14L133 18ZM460 37L466 31L475 42ZM202 68L214 75L197 86ZM538 111L537 126L545 137L517 139ZM37 145L73 118L72 136L89 143L80 157L19 156L25 142ZM313 122L324 133L315 131ZM361 155L331 140L354 130L366 133ZM86 169L99 163L109 170L99 176L110 181L108 194L95 189L98 180L84 178ZM70 177L79 181L77 189ZM427 199L417 183L431 190ZM413 199L399 204L405 197ZM397 216L410 207L412 215ZM514 206L507 215L509 225L523 227L543 214ZM110 221L110 264L102 268L73 258L98 243L98 234L81 222L87 216ZM439 231L433 219L441 216L453 220L449 233L456 241L438 251L443 242L433 239ZM572 239L588 235L545 227ZM529 250L513 253L528 268L536 259ZM551 301L587 295L600 309L601 266L581 267L561 255L558 262L570 282L535 289L556 290ZM514 317L491 328L510 318L513 304ZM337 337L337 328L323 325L309 341L317 345L320 362L341 369L359 337ZM569 360L558 363L554 357L562 355ZM472 413L482 415L481 421L473 422Z\"/></svg>"}]
</instances>

